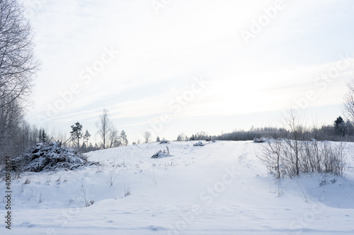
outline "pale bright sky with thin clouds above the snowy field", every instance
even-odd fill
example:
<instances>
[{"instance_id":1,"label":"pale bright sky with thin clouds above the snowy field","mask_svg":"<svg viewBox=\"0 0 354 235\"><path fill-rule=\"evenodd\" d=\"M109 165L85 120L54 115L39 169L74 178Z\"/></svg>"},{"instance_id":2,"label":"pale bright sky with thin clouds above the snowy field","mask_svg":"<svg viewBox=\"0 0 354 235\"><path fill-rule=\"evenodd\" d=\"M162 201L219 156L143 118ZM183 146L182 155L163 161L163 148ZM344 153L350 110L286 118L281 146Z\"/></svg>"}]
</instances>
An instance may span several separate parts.
<instances>
[{"instance_id":1,"label":"pale bright sky with thin clouds above the snowy field","mask_svg":"<svg viewBox=\"0 0 354 235\"><path fill-rule=\"evenodd\" d=\"M103 109L130 143L343 116L354 78L349 0L22 0L41 68L30 123L95 136Z\"/></svg>"}]
</instances>

